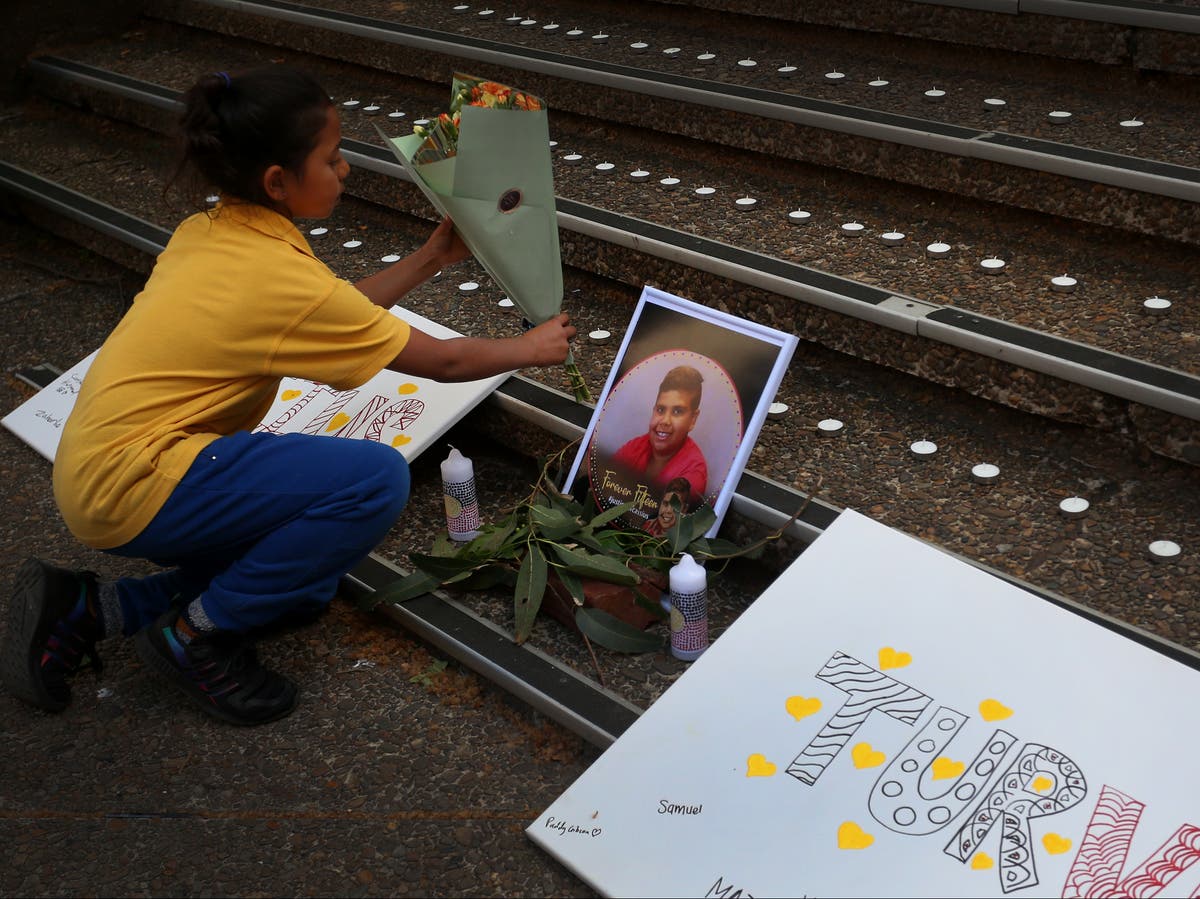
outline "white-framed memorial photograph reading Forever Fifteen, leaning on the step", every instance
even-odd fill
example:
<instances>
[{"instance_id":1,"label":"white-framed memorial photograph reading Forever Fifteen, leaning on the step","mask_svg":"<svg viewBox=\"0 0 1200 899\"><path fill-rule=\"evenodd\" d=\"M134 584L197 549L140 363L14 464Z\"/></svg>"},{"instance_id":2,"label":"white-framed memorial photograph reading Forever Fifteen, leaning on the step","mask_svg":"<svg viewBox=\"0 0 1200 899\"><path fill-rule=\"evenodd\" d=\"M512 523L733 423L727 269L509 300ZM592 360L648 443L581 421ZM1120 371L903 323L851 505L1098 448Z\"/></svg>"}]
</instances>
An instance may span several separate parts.
<instances>
[{"instance_id":1,"label":"white-framed memorial photograph reading Forever Fifteen, leaning on the step","mask_svg":"<svg viewBox=\"0 0 1200 899\"><path fill-rule=\"evenodd\" d=\"M563 492L652 534L708 505L715 534L798 342L643 288Z\"/></svg>"}]
</instances>

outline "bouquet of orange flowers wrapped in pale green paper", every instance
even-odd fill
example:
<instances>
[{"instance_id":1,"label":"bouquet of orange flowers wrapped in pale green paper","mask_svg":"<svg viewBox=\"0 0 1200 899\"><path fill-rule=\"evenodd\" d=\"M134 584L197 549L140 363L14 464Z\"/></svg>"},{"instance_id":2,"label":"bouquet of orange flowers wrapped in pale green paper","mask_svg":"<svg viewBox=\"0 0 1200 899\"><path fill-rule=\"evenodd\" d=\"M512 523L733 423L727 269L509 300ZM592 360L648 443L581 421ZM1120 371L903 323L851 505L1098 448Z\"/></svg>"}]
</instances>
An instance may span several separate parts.
<instances>
[{"instance_id":1,"label":"bouquet of orange flowers wrapped in pale green paper","mask_svg":"<svg viewBox=\"0 0 1200 899\"><path fill-rule=\"evenodd\" d=\"M546 106L498 82L455 74L450 107L412 134L380 137L532 324L563 307ZM575 398L590 402L572 356Z\"/></svg>"}]
</instances>

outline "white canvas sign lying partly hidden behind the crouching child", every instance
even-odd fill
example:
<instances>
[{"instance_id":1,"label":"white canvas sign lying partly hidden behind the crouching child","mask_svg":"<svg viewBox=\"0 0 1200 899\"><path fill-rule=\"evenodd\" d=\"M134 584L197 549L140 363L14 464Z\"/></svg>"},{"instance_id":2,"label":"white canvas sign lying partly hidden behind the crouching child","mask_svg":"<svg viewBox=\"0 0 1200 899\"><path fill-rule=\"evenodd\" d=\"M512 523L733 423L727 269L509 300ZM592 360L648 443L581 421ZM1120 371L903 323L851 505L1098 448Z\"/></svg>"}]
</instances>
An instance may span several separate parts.
<instances>
[{"instance_id":1,"label":"white canvas sign lying partly hidden behind the crouching child","mask_svg":"<svg viewBox=\"0 0 1200 899\"><path fill-rule=\"evenodd\" d=\"M398 306L391 312L433 337L461 336ZM4 426L54 461L62 425L95 355L91 353L13 409L4 418ZM275 404L256 431L377 440L395 446L404 459L413 461L508 377L505 373L445 384L384 370L354 390L334 390L301 378L284 378Z\"/></svg>"}]
</instances>

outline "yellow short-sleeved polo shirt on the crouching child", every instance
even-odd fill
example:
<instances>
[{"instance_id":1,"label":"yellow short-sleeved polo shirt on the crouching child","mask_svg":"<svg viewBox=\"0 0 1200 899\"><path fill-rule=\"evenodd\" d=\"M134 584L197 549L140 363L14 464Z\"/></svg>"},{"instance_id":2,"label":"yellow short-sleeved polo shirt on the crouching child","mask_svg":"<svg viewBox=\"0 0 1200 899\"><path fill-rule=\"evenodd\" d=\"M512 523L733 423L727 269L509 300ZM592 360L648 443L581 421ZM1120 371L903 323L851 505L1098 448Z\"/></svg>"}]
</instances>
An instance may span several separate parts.
<instances>
[{"instance_id":1,"label":"yellow short-sleeved polo shirt on the crouching child","mask_svg":"<svg viewBox=\"0 0 1200 899\"><path fill-rule=\"evenodd\" d=\"M54 498L67 527L96 549L128 543L200 450L259 422L281 378L359 386L408 335L284 216L247 204L191 216L96 354L62 428Z\"/></svg>"}]
</instances>

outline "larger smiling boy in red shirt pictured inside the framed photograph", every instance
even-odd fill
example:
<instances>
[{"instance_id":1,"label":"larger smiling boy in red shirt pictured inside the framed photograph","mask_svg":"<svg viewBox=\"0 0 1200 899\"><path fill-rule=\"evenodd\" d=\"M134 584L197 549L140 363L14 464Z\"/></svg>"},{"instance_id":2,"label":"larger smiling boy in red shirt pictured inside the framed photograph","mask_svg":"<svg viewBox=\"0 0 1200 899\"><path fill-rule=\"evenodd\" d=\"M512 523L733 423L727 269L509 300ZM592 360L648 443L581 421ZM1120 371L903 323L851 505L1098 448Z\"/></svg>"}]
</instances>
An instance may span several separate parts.
<instances>
[{"instance_id":1,"label":"larger smiling boy in red shirt pictured inside the framed photograph","mask_svg":"<svg viewBox=\"0 0 1200 899\"><path fill-rule=\"evenodd\" d=\"M703 376L690 365L677 365L668 371L650 407L647 432L626 442L612 460L614 466L646 479L656 496L668 481L686 478L691 491L685 510L697 505L708 487L708 463L691 439L700 419L703 383Z\"/></svg>"}]
</instances>

